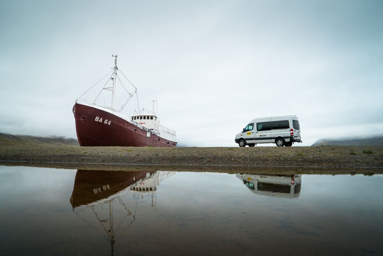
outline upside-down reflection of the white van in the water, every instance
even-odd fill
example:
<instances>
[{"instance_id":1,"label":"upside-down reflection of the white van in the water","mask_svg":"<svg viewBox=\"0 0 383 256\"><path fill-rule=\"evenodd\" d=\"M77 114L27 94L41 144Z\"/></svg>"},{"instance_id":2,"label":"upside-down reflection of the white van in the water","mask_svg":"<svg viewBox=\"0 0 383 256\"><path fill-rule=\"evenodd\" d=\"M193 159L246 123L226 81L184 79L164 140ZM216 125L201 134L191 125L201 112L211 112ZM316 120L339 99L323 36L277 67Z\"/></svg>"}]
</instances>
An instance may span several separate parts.
<instances>
[{"instance_id":1,"label":"upside-down reflection of the white van in the water","mask_svg":"<svg viewBox=\"0 0 383 256\"><path fill-rule=\"evenodd\" d=\"M301 174L258 175L238 173L236 176L257 195L279 198L298 198L301 192Z\"/></svg>"}]
</instances>

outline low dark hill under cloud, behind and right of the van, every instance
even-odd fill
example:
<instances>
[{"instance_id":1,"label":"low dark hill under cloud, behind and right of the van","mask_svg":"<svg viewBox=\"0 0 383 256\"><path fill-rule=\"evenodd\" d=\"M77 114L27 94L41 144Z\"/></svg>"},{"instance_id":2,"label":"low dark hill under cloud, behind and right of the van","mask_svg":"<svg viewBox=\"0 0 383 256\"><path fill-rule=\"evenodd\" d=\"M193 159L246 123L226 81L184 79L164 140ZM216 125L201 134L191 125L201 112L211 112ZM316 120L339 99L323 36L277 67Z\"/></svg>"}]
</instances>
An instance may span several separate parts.
<instances>
[{"instance_id":1,"label":"low dark hill under cloud, behind and right of the van","mask_svg":"<svg viewBox=\"0 0 383 256\"><path fill-rule=\"evenodd\" d=\"M320 139L311 146L383 146L383 136L370 138Z\"/></svg>"}]
</instances>

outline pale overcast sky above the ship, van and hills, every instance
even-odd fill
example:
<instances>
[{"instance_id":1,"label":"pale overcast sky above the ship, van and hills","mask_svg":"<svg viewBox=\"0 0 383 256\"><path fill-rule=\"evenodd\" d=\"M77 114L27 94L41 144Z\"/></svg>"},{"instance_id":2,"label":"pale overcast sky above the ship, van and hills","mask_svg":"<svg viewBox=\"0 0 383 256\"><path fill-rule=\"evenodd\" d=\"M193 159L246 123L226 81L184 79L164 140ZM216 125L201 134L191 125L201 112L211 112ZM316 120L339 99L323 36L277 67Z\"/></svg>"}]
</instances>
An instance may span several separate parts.
<instances>
[{"instance_id":1,"label":"pale overcast sky above the ship, van and hills","mask_svg":"<svg viewBox=\"0 0 383 256\"><path fill-rule=\"evenodd\" d=\"M381 0L3 0L0 22L0 132L77 138L75 100L117 54L180 145L237 146L272 115L298 116L295 146L383 134Z\"/></svg>"}]
</instances>

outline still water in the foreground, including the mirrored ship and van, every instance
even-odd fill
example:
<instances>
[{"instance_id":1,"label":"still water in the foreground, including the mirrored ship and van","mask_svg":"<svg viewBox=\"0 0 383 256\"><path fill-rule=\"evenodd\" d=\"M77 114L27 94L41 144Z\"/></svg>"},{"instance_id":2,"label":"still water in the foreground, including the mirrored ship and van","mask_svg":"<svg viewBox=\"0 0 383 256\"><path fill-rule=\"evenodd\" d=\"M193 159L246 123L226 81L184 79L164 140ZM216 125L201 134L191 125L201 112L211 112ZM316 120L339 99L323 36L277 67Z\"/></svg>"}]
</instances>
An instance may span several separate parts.
<instances>
[{"instance_id":1,"label":"still water in the foreground, including the mirrored ship and van","mask_svg":"<svg viewBox=\"0 0 383 256\"><path fill-rule=\"evenodd\" d=\"M382 183L0 166L0 255L383 255Z\"/></svg>"}]
</instances>

